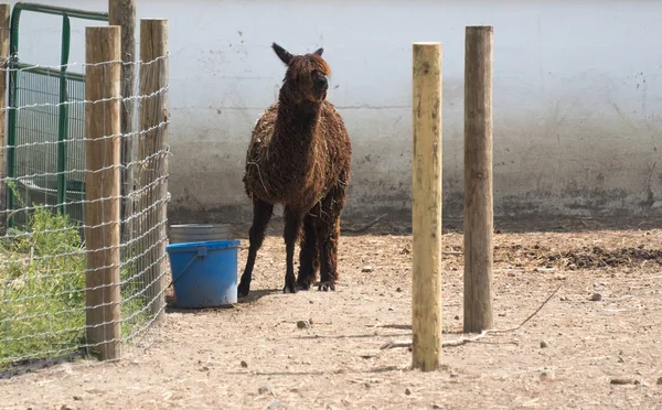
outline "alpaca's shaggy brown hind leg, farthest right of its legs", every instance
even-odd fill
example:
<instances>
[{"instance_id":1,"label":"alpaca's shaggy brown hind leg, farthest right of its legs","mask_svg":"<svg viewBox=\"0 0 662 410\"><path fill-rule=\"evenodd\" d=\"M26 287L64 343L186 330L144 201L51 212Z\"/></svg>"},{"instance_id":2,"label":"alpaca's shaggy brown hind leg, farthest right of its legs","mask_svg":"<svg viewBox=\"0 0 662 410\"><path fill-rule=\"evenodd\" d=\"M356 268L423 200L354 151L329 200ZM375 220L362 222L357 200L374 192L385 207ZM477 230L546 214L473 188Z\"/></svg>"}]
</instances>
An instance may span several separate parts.
<instances>
[{"instance_id":1,"label":"alpaca's shaggy brown hind leg, farthest right of its legs","mask_svg":"<svg viewBox=\"0 0 662 410\"><path fill-rule=\"evenodd\" d=\"M318 223L320 249L320 291L335 290L338 280L338 240L340 238L340 214L344 206L345 192L332 190L322 201L323 219Z\"/></svg>"}]
</instances>

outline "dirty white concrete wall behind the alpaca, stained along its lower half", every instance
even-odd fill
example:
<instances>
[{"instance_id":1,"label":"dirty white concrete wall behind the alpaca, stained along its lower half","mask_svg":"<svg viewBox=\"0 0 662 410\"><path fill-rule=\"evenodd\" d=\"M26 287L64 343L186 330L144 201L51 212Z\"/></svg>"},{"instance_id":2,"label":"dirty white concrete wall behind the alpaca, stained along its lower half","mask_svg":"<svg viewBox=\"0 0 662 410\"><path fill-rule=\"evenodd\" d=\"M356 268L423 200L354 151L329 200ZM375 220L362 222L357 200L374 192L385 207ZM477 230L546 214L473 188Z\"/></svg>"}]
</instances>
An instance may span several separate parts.
<instances>
[{"instance_id":1,"label":"dirty white concrete wall behind the alpaca, stained along its lower half","mask_svg":"<svg viewBox=\"0 0 662 410\"><path fill-rule=\"evenodd\" d=\"M244 152L284 75L273 41L293 53L323 46L334 71L329 98L354 145L348 216L409 211L412 42L442 42L445 211L460 216L469 24L495 30L496 216L662 214L662 2L138 3L140 18L170 20L174 219L249 208ZM58 21L50 20L25 17L23 60L57 63ZM84 25L74 30L74 61L84 60Z\"/></svg>"}]
</instances>

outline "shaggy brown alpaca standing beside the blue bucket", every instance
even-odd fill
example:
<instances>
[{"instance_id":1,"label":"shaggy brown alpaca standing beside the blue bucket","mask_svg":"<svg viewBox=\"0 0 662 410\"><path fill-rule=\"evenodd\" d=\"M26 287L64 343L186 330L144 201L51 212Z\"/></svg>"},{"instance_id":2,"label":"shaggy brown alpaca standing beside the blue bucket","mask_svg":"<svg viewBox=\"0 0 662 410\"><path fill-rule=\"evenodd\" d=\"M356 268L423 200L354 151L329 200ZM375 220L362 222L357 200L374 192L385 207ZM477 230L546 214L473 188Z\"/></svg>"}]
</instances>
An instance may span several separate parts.
<instances>
[{"instance_id":1,"label":"shaggy brown alpaca standing beside the blue bucket","mask_svg":"<svg viewBox=\"0 0 662 410\"><path fill-rule=\"evenodd\" d=\"M340 214L350 182L352 144L340 114L325 100L331 68L321 57L322 48L305 55L292 55L276 43L273 48L287 72L278 101L255 123L246 154L244 185L253 202L253 226L241 296L249 292L255 257L275 204L285 208L282 291L310 289L318 269L320 291L335 290L338 280ZM293 256L299 236L296 278Z\"/></svg>"}]
</instances>

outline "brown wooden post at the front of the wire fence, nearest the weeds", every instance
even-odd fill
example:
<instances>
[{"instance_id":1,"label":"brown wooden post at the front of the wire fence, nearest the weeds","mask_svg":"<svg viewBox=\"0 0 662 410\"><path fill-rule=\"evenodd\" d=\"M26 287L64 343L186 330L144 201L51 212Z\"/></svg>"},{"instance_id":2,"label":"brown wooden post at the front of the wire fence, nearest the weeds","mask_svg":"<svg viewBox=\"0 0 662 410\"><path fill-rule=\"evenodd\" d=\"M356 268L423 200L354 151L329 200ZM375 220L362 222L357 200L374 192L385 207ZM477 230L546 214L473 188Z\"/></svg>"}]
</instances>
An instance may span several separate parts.
<instances>
[{"instance_id":1,"label":"brown wooden post at the front of the wire fence, nearest the weeds","mask_svg":"<svg viewBox=\"0 0 662 410\"><path fill-rule=\"evenodd\" d=\"M87 343L106 360L119 358L121 336L120 28L86 28L85 43L85 100L95 101L85 105L86 327Z\"/></svg>"}]
</instances>

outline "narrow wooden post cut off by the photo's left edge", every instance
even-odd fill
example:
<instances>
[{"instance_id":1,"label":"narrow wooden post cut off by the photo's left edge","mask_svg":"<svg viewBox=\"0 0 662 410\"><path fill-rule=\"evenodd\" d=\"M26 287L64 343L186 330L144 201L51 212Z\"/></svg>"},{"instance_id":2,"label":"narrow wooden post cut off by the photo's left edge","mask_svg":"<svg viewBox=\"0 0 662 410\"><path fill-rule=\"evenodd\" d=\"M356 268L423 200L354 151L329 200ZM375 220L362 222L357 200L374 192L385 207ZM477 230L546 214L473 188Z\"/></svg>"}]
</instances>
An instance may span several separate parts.
<instances>
[{"instance_id":1,"label":"narrow wooden post cut off by the photo's left edge","mask_svg":"<svg viewBox=\"0 0 662 410\"><path fill-rule=\"evenodd\" d=\"M10 20L11 20L11 4L0 4L0 61L2 61L2 69L0 69L0 132L2 138L2 148L0 149L0 180L7 176L7 57L9 56L9 34L10 34ZM0 212L7 209L6 204L6 186L4 182L0 182Z\"/></svg>"}]
</instances>

